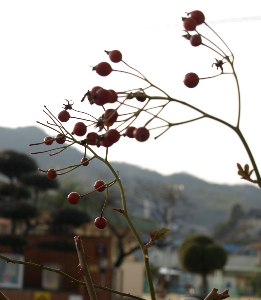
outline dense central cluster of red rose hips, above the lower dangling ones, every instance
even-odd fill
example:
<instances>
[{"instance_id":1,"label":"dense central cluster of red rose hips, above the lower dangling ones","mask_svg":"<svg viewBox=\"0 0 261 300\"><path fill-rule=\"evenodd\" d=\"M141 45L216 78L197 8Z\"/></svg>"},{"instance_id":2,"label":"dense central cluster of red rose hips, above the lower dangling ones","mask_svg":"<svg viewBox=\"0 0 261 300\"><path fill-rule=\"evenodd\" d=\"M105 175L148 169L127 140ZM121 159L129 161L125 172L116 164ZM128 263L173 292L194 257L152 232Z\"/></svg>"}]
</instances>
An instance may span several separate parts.
<instances>
[{"instance_id":1,"label":"dense central cluster of red rose hips, above the lower dangling ones","mask_svg":"<svg viewBox=\"0 0 261 300\"><path fill-rule=\"evenodd\" d=\"M119 62L122 60L122 54L118 50L113 51L106 51L109 55L109 58L113 62ZM107 62L101 62L97 64L95 67L93 67L93 70L96 70L96 72L101 76L107 76L110 74L110 72L113 70ZM98 106L104 106L105 104L111 104L118 101L118 95L117 93L112 90L106 90L102 88L101 86L95 86L90 91L88 90L87 93L85 93L84 97L81 101L84 101L84 99L87 97L90 104L96 104ZM129 96L129 99L131 99L131 96ZM140 102L143 102L146 100L146 96L139 92L136 99ZM70 119L70 113L68 112L68 109L72 109L72 105L65 105L65 110L61 111L58 114L58 120L60 122L67 122ZM109 129L115 122L117 122L119 115L116 109L109 108L107 110L104 109L104 113L102 116L98 119L96 119L96 122L94 122L95 127L99 128L99 131L106 130L105 127L107 127L107 131L105 134L98 134L97 132L89 132L86 135L85 140L82 141L82 143L90 145L90 146L104 146L104 147L110 147L114 143L118 142L121 136L127 136L129 138L135 138L136 140L140 142L144 142L149 138L149 130L145 127L136 128L134 126L129 126L126 128L125 133L120 133L117 129ZM72 134L82 137L87 133L87 126L84 122L77 122L74 127ZM45 145L51 145L53 141L56 141L59 144L63 144L66 141L66 137L62 134L58 134L55 138L52 137L45 137L44 143Z\"/></svg>"}]
</instances>

